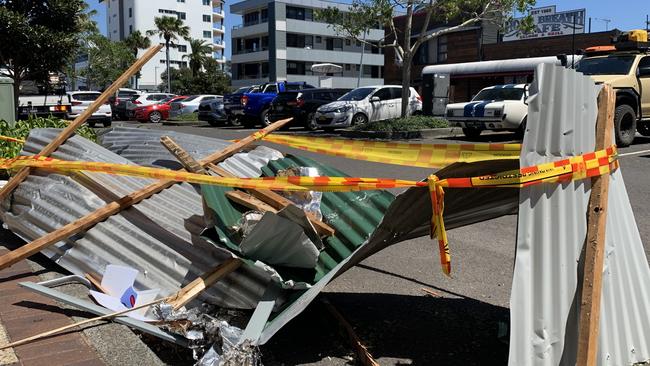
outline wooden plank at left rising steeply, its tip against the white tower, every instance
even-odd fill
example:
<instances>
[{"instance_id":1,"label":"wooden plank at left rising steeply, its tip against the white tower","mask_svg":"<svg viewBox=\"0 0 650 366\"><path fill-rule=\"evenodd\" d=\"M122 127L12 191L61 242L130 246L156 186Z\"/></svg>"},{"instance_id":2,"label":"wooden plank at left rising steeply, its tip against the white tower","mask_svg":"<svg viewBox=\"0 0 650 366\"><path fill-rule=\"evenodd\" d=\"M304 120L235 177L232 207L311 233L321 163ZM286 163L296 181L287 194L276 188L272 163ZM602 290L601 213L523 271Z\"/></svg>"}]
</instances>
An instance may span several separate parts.
<instances>
[{"instance_id":1,"label":"wooden plank at left rising steeply, its tip against the white tower","mask_svg":"<svg viewBox=\"0 0 650 366\"><path fill-rule=\"evenodd\" d=\"M93 113L97 112L99 107L106 103L108 101L108 98L111 97L111 95L115 94L118 89L124 85L126 82L129 81L129 78L133 75L135 75L144 64L146 64L151 58L156 55L160 50L162 49L162 45L155 45L147 50L142 57L140 57L131 67L129 67L117 80L111 84L104 92L94 101L92 102L86 110L84 110L83 113L81 113L77 118L72 121L66 128L61 131L61 133L52 141L50 141L47 146L41 150L38 155L41 156L50 156L53 152L56 151L56 149L61 146L72 134L74 131L79 128L86 120L93 115ZM22 181L24 181L30 173L31 169L29 167L27 168L22 168L14 175L11 177L9 182L5 184L2 189L0 189L0 201L4 200L9 193L11 193Z\"/></svg>"}]
</instances>

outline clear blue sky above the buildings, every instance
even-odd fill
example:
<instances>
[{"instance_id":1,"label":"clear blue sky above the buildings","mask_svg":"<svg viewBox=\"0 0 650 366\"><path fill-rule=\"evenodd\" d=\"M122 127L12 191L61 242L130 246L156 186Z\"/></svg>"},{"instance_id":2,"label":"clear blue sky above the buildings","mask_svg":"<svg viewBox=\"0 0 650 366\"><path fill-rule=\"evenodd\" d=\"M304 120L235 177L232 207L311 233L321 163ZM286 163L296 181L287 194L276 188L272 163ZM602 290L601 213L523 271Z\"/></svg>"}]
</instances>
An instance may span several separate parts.
<instances>
[{"instance_id":1,"label":"clear blue sky above the buildings","mask_svg":"<svg viewBox=\"0 0 650 366\"><path fill-rule=\"evenodd\" d=\"M152 1L152 0L140 0ZM199 0L189 0L199 1ZM106 5L100 4L99 0L86 0L92 9L97 10L95 20L99 29L106 34ZM234 1L237 2L237 1ZM230 29L234 25L241 24L241 16L230 14L230 2L224 5L226 9L226 57L230 59ZM614 5L615 4L615 5ZM650 1L648 0L537 0L536 7L556 5L556 11L573 9L587 9L587 19L591 19L591 31L601 32L607 29L618 28L620 30L643 29L645 28L646 15L650 15ZM609 20L609 22L606 22ZM587 21L586 21L587 22ZM585 24L585 28L587 24ZM587 30L585 30L587 31Z\"/></svg>"}]
</instances>

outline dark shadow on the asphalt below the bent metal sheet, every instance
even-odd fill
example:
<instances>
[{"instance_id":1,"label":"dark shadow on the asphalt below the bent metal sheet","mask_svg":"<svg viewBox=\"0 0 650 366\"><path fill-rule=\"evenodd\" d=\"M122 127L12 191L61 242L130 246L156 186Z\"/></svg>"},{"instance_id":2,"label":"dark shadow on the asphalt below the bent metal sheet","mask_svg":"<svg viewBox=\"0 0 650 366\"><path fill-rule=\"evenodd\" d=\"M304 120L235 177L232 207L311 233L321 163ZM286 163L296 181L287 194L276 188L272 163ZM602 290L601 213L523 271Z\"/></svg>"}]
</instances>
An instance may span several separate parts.
<instances>
[{"instance_id":1,"label":"dark shadow on the asphalt below the bent metal sheet","mask_svg":"<svg viewBox=\"0 0 650 366\"><path fill-rule=\"evenodd\" d=\"M504 365L508 345L497 338L508 309L474 299L328 293L382 364ZM502 324L503 325L503 324ZM265 365L331 364L352 347L325 306L315 302L262 348ZM341 361L338 364L345 364ZM354 364L352 361L350 364Z\"/></svg>"}]
</instances>

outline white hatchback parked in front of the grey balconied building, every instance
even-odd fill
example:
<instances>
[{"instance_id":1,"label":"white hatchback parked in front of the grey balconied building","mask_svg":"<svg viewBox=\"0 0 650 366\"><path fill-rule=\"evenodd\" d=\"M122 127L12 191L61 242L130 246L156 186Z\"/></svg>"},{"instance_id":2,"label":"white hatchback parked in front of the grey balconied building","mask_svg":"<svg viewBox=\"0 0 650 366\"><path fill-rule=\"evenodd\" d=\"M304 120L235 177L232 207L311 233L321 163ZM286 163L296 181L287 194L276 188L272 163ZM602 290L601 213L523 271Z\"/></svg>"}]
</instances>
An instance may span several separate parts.
<instances>
[{"instance_id":1,"label":"white hatchback parked in front of the grey balconied building","mask_svg":"<svg viewBox=\"0 0 650 366\"><path fill-rule=\"evenodd\" d=\"M422 98L415 89L409 90L408 114L421 113ZM401 113L401 86L365 86L350 91L335 102L318 107L314 120L318 128L333 129L397 118Z\"/></svg>"}]
</instances>

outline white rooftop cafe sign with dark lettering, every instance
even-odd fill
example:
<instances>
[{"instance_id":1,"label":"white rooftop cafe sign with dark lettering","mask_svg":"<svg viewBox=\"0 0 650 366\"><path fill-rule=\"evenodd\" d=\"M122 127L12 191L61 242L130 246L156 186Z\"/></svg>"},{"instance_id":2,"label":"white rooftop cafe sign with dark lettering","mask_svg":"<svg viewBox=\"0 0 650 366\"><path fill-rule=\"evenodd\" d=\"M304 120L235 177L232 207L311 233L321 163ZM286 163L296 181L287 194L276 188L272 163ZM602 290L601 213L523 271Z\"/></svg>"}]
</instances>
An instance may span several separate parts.
<instances>
[{"instance_id":1,"label":"white rooftop cafe sign with dark lettering","mask_svg":"<svg viewBox=\"0 0 650 366\"><path fill-rule=\"evenodd\" d=\"M512 19L507 25L503 41L518 41L521 39L565 36L585 32L585 9L556 12L555 5L530 10L533 18L533 29L522 32L519 24L524 18Z\"/></svg>"}]
</instances>

